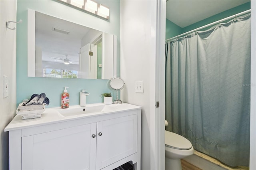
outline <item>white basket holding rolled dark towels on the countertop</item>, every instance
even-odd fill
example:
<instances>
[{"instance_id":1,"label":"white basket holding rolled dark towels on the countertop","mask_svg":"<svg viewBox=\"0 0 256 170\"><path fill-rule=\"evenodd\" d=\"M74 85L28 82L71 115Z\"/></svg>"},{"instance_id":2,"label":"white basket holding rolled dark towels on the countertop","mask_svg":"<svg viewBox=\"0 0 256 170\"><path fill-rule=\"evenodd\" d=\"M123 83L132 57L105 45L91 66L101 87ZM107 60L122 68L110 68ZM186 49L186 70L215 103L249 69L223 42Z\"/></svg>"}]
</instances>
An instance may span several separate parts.
<instances>
[{"instance_id":1,"label":"white basket holding rolled dark towels on the countertop","mask_svg":"<svg viewBox=\"0 0 256 170\"><path fill-rule=\"evenodd\" d=\"M16 110L16 114L21 115L22 119L33 119L42 117L44 110L45 105L23 106L23 103L20 103Z\"/></svg>"}]
</instances>

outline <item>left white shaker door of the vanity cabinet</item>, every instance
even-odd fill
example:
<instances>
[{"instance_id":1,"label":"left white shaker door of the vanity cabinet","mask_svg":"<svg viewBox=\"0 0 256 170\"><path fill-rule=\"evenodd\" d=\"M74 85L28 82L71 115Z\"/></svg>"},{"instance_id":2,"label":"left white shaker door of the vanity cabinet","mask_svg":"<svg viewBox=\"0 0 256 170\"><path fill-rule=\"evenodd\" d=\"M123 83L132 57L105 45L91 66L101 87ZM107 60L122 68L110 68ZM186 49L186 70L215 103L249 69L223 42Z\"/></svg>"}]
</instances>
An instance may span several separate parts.
<instances>
[{"instance_id":1,"label":"left white shaker door of the vanity cabinet","mask_svg":"<svg viewBox=\"0 0 256 170\"><path fill-rule=\"evenodd\" d=\"M22 137L23 170L96 168L96 123Z\"/></svg>"}]
</instances>

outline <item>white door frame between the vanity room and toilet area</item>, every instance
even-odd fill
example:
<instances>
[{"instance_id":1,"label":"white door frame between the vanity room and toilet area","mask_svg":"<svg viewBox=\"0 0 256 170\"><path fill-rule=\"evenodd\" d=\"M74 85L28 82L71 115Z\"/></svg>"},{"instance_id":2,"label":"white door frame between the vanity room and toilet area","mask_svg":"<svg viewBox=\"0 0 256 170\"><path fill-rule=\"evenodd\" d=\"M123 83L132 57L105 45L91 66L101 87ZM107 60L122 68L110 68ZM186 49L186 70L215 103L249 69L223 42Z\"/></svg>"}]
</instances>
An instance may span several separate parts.
<instances>
[{"instance_id":1,"label":"white door frame between the vanity room and toilet area","mask_svg":"<svg viewBox=\"0 0 256 170\"><path fill-rule=\"evenodd\" d=\"M156 96L155 101L159 102L159 107L155 109L150 115L150 144L152 150L150 151L150 167L151 170L165 170L165 21L166 21L166 0L152 1L152 28L155 30L155 44L156 51ZM156 8L155 8L156 7ZM153 26L153 24L155 24ZM153 35L152 35L153 36Z\"/></svg>"}]
</instances>

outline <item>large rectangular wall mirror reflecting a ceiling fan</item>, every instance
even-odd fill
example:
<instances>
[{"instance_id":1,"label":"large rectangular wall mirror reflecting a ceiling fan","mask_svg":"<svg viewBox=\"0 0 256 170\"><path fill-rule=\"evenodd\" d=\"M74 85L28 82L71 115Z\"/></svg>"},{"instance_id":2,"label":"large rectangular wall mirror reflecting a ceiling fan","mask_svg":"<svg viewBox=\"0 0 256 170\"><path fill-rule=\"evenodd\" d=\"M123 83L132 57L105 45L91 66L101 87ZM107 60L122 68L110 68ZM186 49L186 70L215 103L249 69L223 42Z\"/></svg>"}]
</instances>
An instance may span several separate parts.
<instances>
[{"instance_id":1,"label":"large rectangular wall mirror reflecting a ceiling fan","mask_svg":"<svg viewBox=\"0 0 256 170\"><path fill-rule=\"evenodd\" d=\"M111 79L114 35L28 9L28 77Z\"/></svg>"}]
</instances>

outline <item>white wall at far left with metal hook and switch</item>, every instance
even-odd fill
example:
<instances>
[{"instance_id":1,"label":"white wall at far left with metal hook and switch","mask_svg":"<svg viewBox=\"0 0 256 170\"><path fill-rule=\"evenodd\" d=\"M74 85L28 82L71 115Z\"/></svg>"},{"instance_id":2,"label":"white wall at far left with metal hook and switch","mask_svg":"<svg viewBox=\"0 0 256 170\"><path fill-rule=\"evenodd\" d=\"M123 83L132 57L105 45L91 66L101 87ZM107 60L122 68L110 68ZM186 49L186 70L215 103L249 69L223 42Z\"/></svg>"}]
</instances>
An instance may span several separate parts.
<instances>
[{"instance_id":1,"label":"white wall at far left with metal hook and switch","mask_svg":"<svg viewBox=\"0 0 256 170\"><path fill-rule=\"evenodd\" d=\"M16 112L16 30L6 28L7 21L16 21L17 1L0 0L0 170L8 170L8 132L4 128ZM10 27L16 27L11 23ZM9 96L3 97L3 77L9 77Z\"/></svg>"}]
</instances>

